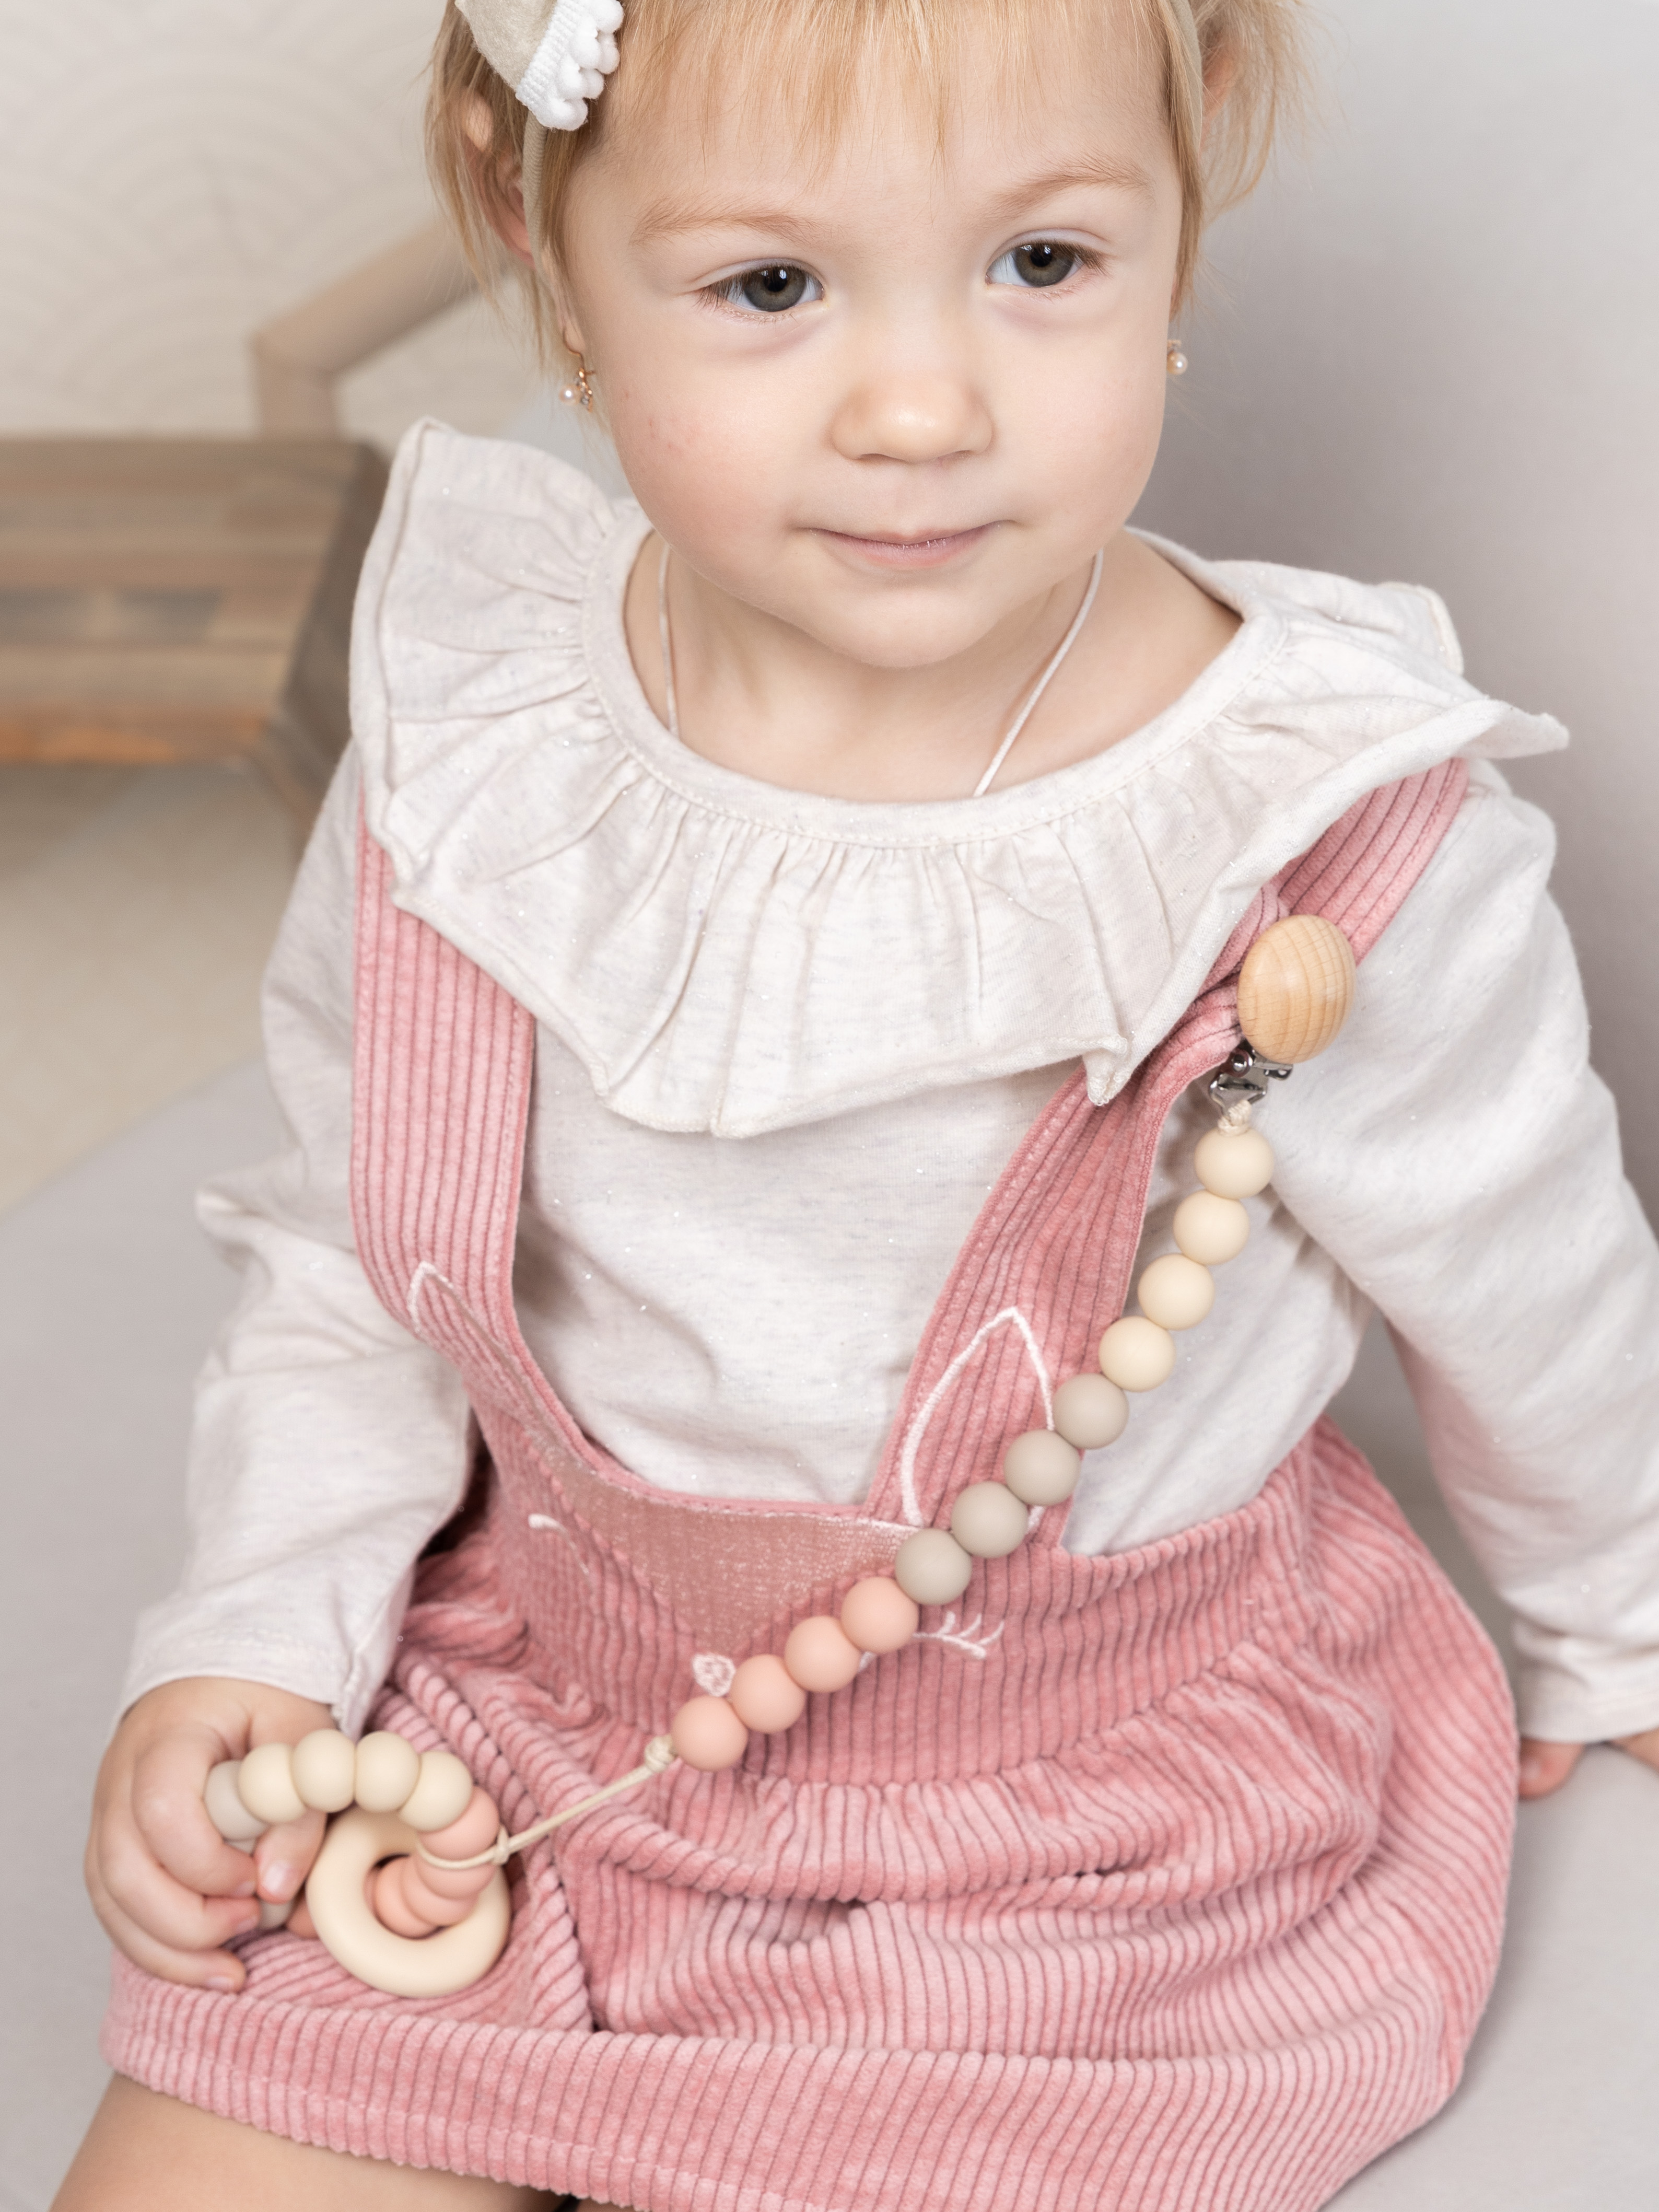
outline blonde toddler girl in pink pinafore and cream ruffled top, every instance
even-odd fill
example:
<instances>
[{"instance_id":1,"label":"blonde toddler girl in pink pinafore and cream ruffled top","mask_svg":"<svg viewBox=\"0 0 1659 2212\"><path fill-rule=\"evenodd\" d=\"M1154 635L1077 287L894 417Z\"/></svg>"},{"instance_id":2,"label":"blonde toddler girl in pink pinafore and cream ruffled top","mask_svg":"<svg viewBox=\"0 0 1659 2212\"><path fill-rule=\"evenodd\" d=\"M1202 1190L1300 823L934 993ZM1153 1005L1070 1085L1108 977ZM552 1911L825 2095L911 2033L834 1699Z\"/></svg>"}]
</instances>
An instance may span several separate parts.
<instances>
[{"instance_id":1,"label":"blonde toddler girl in pink pinafore and cream ruffled top","mask_svg":"<svg viewBox=\"0 0 1659 2212\"><path fill-rule=\"evenodd\" d=\"M1524 1787L1655 1759L1659 1263L1491 765L1559 732L1433 593L1126 526L1294 18L633 0L617 58L608 0L449 9L438 175L639 504L400 451L270 971L290 1144L206 1199L248 1287L100 1783L62 2205L1325 2203L1458 2079L1515 1794L1321 1420L1371 1307ZM1356 1013L1177 1221L1290 914ZM332 1717L524 1827L690 1708L451 1997L257 1936L321 1818L250 1871L201 1807Z\"/></svg>"}]
</instances>

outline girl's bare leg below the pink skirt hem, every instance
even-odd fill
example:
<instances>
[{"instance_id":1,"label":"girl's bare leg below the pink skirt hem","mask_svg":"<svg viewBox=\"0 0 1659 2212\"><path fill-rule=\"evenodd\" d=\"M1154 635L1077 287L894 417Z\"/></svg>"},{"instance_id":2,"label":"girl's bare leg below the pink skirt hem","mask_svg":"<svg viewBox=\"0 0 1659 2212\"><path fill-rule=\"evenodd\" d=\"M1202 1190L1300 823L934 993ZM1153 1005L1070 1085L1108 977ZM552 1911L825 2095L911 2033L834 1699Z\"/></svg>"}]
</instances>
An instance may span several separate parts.
<instances>
[{"instance_id":1,"label":"girl's bare leg below the pink skirt hem","mask_svg":"<svg viewBox=\"0 0 1659 2212\"><path fill-rule=\"evenodd\" d=\"M551 2212L555 2197L261 2135L111 2081L53 2212Z\"/></svg>"}]
</instances>

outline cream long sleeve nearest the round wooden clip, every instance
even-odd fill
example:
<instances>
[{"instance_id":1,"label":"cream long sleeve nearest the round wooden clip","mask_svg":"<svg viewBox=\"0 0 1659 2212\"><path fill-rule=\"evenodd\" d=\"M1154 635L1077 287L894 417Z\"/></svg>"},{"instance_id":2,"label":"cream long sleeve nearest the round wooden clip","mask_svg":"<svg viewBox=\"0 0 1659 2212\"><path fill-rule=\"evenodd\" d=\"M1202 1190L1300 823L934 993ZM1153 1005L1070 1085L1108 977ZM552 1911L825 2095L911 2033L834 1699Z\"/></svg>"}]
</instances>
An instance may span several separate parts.
<instances>
[{"instance_id":1,"label":"cream long sleeve nearest the round wooden clip","mask_svg":"<svg viewBox=\"0 0 1659 2212\"><path fill-rule=\"evenodd\" d=\"M1515 1613L1524 1728L1595 1741L1659 1723L1659 1252L1551 856L1482 772L1272 1139L1285 1208L1387 1316Z\"/></svg>"}]
</instances>

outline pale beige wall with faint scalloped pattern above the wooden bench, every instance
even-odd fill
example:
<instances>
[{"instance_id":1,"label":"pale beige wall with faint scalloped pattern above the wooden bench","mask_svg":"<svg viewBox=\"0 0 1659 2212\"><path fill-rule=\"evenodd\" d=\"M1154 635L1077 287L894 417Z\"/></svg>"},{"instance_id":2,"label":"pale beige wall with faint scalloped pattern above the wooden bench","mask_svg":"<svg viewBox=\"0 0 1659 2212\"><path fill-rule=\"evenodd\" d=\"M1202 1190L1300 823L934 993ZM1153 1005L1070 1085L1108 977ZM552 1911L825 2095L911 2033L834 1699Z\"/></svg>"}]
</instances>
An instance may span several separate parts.
<instances>
[{"instance_id":1,"label":"pale beige wall with faint scalloped pattern above the wooden bench","mask_svg":"<svg viewBox=\"0 0 1659 2212\"><path fill-rule=\"evenodd\" d=\"M246 429L246 334L431 219L438 0L0 0L0 431ZM460 307L347 427L495 429L531 378Z\"/></svg>"}]
</instances>

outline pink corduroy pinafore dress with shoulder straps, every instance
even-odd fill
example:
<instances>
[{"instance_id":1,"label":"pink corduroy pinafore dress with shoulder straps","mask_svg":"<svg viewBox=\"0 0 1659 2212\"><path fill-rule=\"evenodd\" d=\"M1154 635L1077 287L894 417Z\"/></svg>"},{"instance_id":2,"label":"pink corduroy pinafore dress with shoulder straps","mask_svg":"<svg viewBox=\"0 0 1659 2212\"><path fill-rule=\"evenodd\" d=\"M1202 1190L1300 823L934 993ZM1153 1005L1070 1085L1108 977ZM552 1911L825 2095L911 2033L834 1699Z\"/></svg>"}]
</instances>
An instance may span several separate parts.
<instances>
[{"instance_id":1,"label":"pink corduroy pinafore dress with shoulder straps","mask_svg":"<svg viewBox=\"0 0 1659 2212\"><path fill-rule=\"evenodd\" d=\"M1371 794L1254 900L1110 1106L1082 1075L984 1206L858 1509L650 1489L513 1314L533 1022L389 900L363 841L356 1221L484 1440L376 1714L524 1827L781 1650L1042 1422L1124 1307L1159 1128L1234 1046L1237 964L1325 914L1358 953L1458 765ZM1312 2212L1458 2079L1498 1960L1498 1659L1321 1422L1237 1513L1108 1557L1042 1515L958 1608L741 1767L675 1767L513 1869L502 1960L409 2002L294 1936L241 1995L124 1962L106 2053L334 2150L639 2212Z\"/></svg>"}]
</instances>

